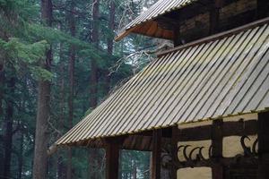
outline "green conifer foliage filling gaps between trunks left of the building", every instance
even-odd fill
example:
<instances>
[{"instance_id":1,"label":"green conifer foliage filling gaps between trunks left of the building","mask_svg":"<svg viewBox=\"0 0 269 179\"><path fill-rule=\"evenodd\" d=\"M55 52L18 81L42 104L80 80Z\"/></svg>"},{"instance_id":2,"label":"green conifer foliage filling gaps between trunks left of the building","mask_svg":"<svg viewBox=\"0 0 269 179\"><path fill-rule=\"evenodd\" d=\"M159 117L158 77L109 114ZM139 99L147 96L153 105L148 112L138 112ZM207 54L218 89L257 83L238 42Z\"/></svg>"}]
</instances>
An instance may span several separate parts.
<instances>
[{"instance_id":1,"label":"green conifer foliage filling gaps between trunks left of the building","mask_svg":"<svg viewBox=\"0 0 269 179\"><path fill-rule=\"evenodd\" d=\"M69 60L70 47L75 48L74 66L74 124L77 124L85 115L93 110L89 108L91 60L97 61L98 65L98 101L107 98L106 91L107 75L109 75L109 87L113 89L122 85L134 75L136 64L141 69L148 64L149 57L142 55L134 59L126 58L143 47L152 45L149 38L132 36L114 44L113 55L107 53L108 39L115 37L115 31L108 28L109 1L102 1L100 4L100 20L96 21L100 26L99 47L91 44L91 1L74 1L75 6L75 37L70 35L69 13L72 6L71 1L53 1L53 24L52 27L44 27L40 23L40 1L39 0L0 0L0 64L4 64L6 80L15 77L15 91L12 97L14 114L13 128L17 128L13 138L13 160L12 176L17 178L18 159L17 154L22 152L23 171L22 178L31 178L33 146L35 136L35 120L37 108L37 81L51 81L51 114L49 118L49 144L69 130L68 120L68 97L69 97ZM143 1L116 1L116 24L118 22L130 21L142 9ZM126 11L132 8L132 11ZM124 17L123 17L124 15ZM122 24L120 24L122 25ZM39 64L44 63L48 49L52 49L53 61L51 70L42 68ZM117 62L120 63L117 64ZM117 64L116 68L113 68ZM12 70L11 70L12 69ZM117 69L117 70L116 70ZM135 71L135 72L138 72ZM4 91L8 91L8 85L4 84ZM1 88L0 88L1 89ZM1 92L1 91L0 91ZM3 109L6 109L5 101L10 94L4 94ZM0 97L1 100L1 97ZM4 116L0 116L0 138L4 134ZM63 124L61 124L63 123ZM20 134L23 135L22 149L20 146ZM0 147L4 143L0 140ZM63 158L63 165L66 166L66 150L58 153ZM88 150L74 149L73 169L74 178L86 178L88 167ZM122 174L131 175L136 165L137 178L149 178L149 153L138 151L123 151L122 153ZM0 148L0 158L3 149ZM131 159L130 159L131 158ZM49 158L48 178L56 178L57 156ZM134 165L135 164L135 165ZM1 168L1 163L0 163ZM144 172L144 173L143 173ZM0 171L1 173L1 171Z\"/></svg>"}]
</instances>

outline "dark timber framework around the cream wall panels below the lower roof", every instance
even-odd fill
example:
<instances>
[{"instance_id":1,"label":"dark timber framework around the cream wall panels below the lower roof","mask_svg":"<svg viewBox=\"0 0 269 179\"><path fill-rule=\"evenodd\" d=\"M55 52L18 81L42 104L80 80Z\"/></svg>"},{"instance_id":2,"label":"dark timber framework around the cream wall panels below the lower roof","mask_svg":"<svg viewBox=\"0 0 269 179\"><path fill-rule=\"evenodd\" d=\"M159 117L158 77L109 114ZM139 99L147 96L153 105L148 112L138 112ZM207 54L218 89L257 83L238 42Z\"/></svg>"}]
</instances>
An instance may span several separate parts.
<instances>
[{"instance_id":1,"label":"dark timber framework around the cream wall panels below the lower roof","mask_svg":"<svg viewBox=\"0 0 269 179\"><path fill-rule=\"evenodd\" d=\"M227 169L230 167L253 167L258 179L269 178L269 112L259 113L257 119L244 118L238 121L225 122L222 119L213 120L213 124L203 126L195 126L179 129L178 126L169 127L166 129L158 129L148 132L142 132L137 136L144 138L152 138L152 144L148 145L147 151L152 151L151 162L151 178L161 179L161 167L169 168L170 178L177 178L177 170L187 167L207 166L212 168L213 179L230 178ZM199 124L199 122L198 122ZM180 126L180 124L179 124ZM184 124L183 124L184 126ZM257 135L257 140L251 146L247 146L244 141L247 136ZM223 138L230 136L239 136L243 153L232 158L225 158L222 155ZM165 139L165 145L162 143ZM210 158L204 158L199 155L194 158L195 148L192 146L178 146L179 141L204 141L211 140L212 145L209 149ZM107 178L117 179L119 150L123 149L122 144L128 141L128 137L112 137L105 140L106 156L107 156ZM185 149L188 149L187 150ZM203 146L196 147L196 150L203 149ZM256 150L256 148L258 150ZM180 161L178 158L178 150L184 149L185 155L188 156L186 161ZM142 150L142 149L141 149ZM168 156L169 164L164 165L161 156ZM180 176L178 176L180 178Z\"/></svg>"}]
</instances>

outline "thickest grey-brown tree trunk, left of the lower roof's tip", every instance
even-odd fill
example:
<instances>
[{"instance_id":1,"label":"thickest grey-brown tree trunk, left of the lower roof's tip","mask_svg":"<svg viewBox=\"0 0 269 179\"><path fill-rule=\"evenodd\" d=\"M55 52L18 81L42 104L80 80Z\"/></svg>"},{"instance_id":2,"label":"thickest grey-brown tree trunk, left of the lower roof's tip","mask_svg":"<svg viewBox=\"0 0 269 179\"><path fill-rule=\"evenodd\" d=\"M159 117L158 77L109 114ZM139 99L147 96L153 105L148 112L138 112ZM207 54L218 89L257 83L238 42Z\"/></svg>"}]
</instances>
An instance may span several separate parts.
<instances>
[{"instance_id":1,"label":"thickest grey-brown tree trunk, left of the lower roof's tip","mask_svg":"<svg viewBox=\"0 0 269 179\"><path fill-rule=\"evenodd\" d=\"M48 26L52 21L52 4L51 0L41 0L41 18ZM46 53L46 62L41 65L42 68L50 71L52 59L51 49ZM49 100L50 100L50 81L39 80L38 109L35 134L35 150L33 178L47 178L48 168L48 118L49 118Z\"/></svg>"}]
</instances>

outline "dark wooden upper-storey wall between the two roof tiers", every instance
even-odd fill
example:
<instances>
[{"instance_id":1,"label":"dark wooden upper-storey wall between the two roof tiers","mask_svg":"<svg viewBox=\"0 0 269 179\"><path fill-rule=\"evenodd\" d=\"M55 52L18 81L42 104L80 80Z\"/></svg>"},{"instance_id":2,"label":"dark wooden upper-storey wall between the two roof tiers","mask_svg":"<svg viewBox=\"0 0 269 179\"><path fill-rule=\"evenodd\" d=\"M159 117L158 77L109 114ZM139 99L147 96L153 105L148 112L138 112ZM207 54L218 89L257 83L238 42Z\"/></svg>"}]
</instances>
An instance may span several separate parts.
<instances>
[{"instance_id":1,"label":"dark wooden upper-storey wall between the two roof tiers","mask_svg":"<svg viewBox=\"0 0 269 179\"><path fill-rule=\"evenodd\" d=\"M231 30L269 15L268 0L199 0L156 19L175 46Z\"/></svg>"}]
</instances>

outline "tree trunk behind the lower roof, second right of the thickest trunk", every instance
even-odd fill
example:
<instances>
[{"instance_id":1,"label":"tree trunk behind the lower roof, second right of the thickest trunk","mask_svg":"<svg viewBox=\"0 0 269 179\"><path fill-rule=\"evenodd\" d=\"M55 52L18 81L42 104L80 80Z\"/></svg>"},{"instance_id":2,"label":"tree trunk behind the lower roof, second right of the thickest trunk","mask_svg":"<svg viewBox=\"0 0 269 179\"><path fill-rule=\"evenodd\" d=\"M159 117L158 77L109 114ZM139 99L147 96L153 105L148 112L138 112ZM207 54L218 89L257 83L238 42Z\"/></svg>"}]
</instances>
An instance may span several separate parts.
<instances>
[{"instance_id":1,"label":"tree trunk behind the lower roof, second right of the thickest trunk","mask_svg":"<svg viewBox=\"0 0 269 179\"><path fill-rule=\"evenodd\" d=\"M92 3L92 32L91 32L91 42L96 48L99 47L99 5L100 0L94 0ZM91 79L90 79L90 107L94 108L97 106L97 92L98 92L98 78L97 78L97 64L96 59L91 59ZM88 176L90 179L99 179L98 172L100 169L99 158L100 151L99 149L90 149L89 150L89 171Z\"/></svg>"}]
</instances>

